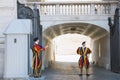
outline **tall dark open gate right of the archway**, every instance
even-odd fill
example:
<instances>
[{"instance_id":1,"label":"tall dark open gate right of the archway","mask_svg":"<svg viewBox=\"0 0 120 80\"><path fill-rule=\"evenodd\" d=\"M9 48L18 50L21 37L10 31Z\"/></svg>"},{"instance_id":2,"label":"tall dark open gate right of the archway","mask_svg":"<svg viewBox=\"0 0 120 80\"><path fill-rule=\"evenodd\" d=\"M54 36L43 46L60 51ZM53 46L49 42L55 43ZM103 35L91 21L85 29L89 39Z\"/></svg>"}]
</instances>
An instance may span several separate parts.
<instances>
[{"instance_id":1,"label":"tall dark open gate right of the archway","mask_svg":"<svg viewBox=\"0 0 120 80\"><path fill-rule=\"evenodd\" d=\"M111 70L120 73L120 1L115 10L114 23L108 18L110 26Z\"/></svg>"}]
</instances>

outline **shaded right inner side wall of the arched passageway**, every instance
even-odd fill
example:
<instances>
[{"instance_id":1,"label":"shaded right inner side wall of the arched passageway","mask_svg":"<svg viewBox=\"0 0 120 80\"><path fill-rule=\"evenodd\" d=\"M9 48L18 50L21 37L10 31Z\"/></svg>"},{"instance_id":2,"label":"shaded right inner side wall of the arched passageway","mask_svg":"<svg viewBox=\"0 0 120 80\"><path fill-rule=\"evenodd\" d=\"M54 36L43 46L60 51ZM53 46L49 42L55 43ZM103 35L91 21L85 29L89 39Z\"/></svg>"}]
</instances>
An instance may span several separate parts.
<instances>
[{"instance_id":1,"label":"shaded right inner side wall of the arched passageway","mask_svg":"<svg viewBox=\"0 0 120 80\"><path fill-rule=\"evenodd\" d=\"M93 44L93 59L99 67L110 69L110 41L109 35L94 41Z\"/></svg>"}]
</instances>

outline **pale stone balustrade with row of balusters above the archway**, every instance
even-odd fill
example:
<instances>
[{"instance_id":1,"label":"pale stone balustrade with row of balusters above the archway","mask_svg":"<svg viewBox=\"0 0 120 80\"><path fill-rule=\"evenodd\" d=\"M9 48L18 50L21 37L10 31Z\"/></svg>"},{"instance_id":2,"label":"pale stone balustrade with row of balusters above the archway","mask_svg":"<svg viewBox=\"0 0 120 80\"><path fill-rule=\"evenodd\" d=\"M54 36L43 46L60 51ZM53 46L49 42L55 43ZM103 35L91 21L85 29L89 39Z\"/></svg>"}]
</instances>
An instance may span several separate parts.
<instances>
[{"instance_id":1,"label":"pale stone balustrade with row of balusters above the archway","mask_svg":"<svg viewBox=\"0 0 120 80\"><path fill-rule=\"evenodd\" d=\"M26 2L33 8L34 2ZM117 1L99 2L36 2L40 15L109 15L114 14Z\"/></svg>"}]
</instances>

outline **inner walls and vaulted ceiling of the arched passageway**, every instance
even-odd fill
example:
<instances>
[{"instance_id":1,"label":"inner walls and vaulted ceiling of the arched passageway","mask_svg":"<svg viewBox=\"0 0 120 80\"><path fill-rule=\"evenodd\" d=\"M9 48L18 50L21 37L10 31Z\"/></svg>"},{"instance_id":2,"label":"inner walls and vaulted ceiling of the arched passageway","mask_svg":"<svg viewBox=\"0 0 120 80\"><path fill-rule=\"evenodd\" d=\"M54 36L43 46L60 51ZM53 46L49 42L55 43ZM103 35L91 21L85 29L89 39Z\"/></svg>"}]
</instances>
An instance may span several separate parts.
<instances>
[{"instance_id":1,"label":"inner walls and vaulted ceiling of the arched passageway","mask_svg":"<svg viewBox=\"0 0 120 80\"><path fill-rule=\"evenodd\" d=\"M91 38L92 61L95 65L110 69L109 33L100 26L88 23L64 23L50 26L43 32L44 44L49 45L44 57L44 67L55 62L55 45L53 39L65 34L78 34ZM84 39L83 39L84 40Z\"/></svg>"}]
</instances>

